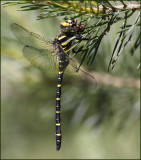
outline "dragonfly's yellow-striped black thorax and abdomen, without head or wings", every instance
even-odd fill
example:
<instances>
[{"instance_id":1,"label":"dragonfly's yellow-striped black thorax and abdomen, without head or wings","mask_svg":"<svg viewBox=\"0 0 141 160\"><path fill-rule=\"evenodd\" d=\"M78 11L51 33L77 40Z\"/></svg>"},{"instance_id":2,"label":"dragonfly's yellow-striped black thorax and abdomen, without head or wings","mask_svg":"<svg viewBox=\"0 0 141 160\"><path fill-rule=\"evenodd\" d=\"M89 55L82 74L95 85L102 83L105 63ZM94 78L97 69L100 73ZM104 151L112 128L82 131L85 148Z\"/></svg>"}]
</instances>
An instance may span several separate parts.
<instances>
[{"instance_id":1,"label":"dragonfly's yellow-striped black thorax and abdomen, without head or wings","mask_svg":"<svg viewBox=\"0 0 141 160\"><path fill-rule=\"evenodd\" d=\"M58 151L61 148L61 116L60 116L60 109L61 109L61 85L63 80L63 74L66 67L69 64L69 48L72 45L72 41L68 40L68 36L65 34L60 34L54 40L54 47L57 51L57 56L59 59L59 72L58 72L58 80L57 80L57 91L56 91L56 150Z\"/></svg>"}]
</instances>

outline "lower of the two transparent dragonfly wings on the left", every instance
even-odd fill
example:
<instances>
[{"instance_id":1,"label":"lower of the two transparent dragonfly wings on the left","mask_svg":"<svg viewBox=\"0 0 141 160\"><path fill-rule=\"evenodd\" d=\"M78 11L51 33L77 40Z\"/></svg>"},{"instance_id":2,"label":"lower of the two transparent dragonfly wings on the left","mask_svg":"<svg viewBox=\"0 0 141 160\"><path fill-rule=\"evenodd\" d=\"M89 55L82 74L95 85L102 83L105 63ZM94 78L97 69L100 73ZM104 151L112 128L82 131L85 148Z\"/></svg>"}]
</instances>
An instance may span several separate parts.
<instances>
[{"instance_id":1,"label":"lower of the two transparent dragonfly wings on the left","mask_svg":"<svg viewBox=\"0 0 141 160\"><path fill-rule=\"evenodd\" d=\"M31 62L31 64L39 69L55 71L57 68L56 56L53 55L50 50L25 46L23 48L23 55Z\"/></svg>"}]
</instances>

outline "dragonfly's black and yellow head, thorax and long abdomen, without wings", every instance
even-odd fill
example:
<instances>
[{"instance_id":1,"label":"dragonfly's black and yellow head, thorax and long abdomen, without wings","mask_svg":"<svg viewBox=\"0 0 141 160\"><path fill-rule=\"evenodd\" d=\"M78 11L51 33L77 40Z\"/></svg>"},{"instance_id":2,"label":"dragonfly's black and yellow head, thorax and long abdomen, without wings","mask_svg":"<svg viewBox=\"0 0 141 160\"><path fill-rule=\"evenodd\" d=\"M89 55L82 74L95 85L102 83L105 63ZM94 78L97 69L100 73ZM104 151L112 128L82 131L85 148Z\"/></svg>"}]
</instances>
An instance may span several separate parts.
<instances>
[{"instance_id":1,"label":"dragonfly's black and yellow head, thorax and long abdomen, without wings","mask_svg":"<svg viewBox=\"0 0 141 160\"><path fill-rule=\"evenodd\" d=\"M84 31L84 25L78 24L76 20L67 20L61 23L61 33L54 39L53 46L56 52L57 60L59 61L59 72L56 92L56 150L61 148L61 85L63 74L66 67L69 65L69 49L73 45L72 38L79 32Z\"/></svg>"}]
</instances>

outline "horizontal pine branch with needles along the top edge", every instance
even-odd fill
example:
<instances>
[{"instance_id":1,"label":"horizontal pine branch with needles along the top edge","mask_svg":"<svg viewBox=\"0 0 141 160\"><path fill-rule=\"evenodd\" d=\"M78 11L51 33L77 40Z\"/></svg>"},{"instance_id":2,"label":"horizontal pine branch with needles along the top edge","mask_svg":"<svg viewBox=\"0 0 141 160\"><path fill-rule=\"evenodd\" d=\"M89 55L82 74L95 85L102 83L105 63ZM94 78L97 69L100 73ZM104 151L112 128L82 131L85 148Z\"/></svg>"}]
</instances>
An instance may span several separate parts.
<instances>
[{"instance_id":1,"label":"horizontal pine branch with needles along the top edge","mask_svg":"<svg viewBox=\"0 0 141 160\"><path fill-rule=\"evenodd\" d=\"M3 5L10 6L10 5L17 5L17 4L31 4L22 6L21 10L19 11L26 11L34 9L43 9L41 12L48 11L51 13L51 9L57 8L57 11L66 11L66 12L75 12L80 15L84 14L93 14L93 15L103 15L103 14L114 14L114 12L122 12L125 10L140 10L141 6L140 3L138 4L125 4L124 5L114 5L112 6L110 2L100 2L100 1L62 1L62 2L55 2L55 1L19 1L19 2L6 2ZM54 10L55 11L55 10ZM53 15L50 15L52 17ZM49 16L48 16L49 17ZM45 18L45 17L40 17ZM47 18L47 17L46 17Z\"/></svg>"}]
</instances>

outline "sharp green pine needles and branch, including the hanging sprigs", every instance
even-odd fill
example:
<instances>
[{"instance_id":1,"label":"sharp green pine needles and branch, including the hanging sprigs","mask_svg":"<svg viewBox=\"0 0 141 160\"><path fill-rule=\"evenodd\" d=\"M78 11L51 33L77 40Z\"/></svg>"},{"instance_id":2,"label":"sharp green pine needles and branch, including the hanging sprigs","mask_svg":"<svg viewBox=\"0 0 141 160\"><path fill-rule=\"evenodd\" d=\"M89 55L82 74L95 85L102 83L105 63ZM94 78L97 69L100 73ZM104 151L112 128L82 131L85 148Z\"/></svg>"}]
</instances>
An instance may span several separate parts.
<instances>
[{"instance_id":1,"label":"sharp green pine needles and branch, including the hanging sprigs","mask_svg":"<svg viewBox=\"0 0 141 160\"><path fill-rule=\"evenodd\" d=\"M18 11L40 10L38 20L59 16L63 16L64 19L81 18L81 23L85 23L86 25L82 40L87 40L75 53L81 53L83 55L80 66L85 59L87 60L87 64L92 65L92 63L94 63L103 38L110 32L113 24L121 21L122 25L117 31L117 40L113 47L108 66L108 71L113 69L118 57L123 53L124 48L127 48L127 45L131 43L136 28L140 26L139 1L133 4L128 2L124 3L123 1L118 1L118 4L110 1L18 1L6 2L4 6L17 4L22 4L21 9ZM138 16L133 24L129 24L129 19L135 12L139 12ZM139 37L140 34L133 42L134 45L130 51L132 55L139 47ZM80 41L76 42L75 46L79 43Z\"/></svg>"}]
</instances>

